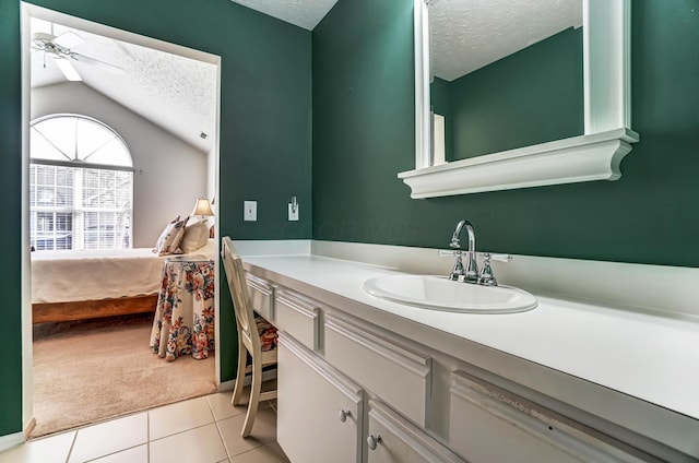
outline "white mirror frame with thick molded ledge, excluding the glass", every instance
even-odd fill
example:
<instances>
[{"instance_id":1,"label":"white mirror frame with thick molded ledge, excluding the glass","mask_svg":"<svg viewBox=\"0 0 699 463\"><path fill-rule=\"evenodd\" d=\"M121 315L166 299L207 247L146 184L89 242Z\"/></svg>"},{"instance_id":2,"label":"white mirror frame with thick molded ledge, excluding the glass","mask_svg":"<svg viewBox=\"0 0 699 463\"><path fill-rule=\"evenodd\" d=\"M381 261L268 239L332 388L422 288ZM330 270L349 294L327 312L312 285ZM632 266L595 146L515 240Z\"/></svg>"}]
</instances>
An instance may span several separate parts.
<instances>
[{"instance_id":1,"label":"white mirror frame with thick molded ledge, excluding the glass","mask_svg":"<svg viewBox=\"0 0 699 463\"><path fill-rule=\"evenodd\" d=\"M435 164L428 14L435 0L415 0L415 169L398 175L411 198L620 178L619 164L639 140L630 120L631 1L581 1L584 133Z\"/></svg>"}]
</instances>

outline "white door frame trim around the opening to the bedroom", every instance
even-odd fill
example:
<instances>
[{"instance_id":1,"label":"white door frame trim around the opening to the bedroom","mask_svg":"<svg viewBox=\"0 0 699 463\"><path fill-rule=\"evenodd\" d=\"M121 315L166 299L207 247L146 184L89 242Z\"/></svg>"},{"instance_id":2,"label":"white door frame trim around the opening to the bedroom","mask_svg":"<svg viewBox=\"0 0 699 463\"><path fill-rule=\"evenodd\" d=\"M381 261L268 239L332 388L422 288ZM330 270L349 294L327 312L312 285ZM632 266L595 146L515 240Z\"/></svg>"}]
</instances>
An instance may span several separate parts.
<instances>
[{"instance_id":1,"label":"white door frame trim around the opening to the bedroom","mask_svg":"<svg viewBox=\"0 0 699 463\"><path fill-rule=\"evenodd\" d=\"M27 256L24 257L23 262L23 344L25 346L23 354L23 428L27 429L31 427L32 419L34 417L34 406L33 406L33 351L32 351L32 341L33 341L33 325L32 325L32 310L31 310L31 272L29 272L29 254L28 254L28 236L29 236L29 224L27 217L29 216L29 192L28 192L28 165L29 165L29 152L28 152L28 133L29 133L29 123L32 118L32 90L31 90L31 80L32 80L32 44L35 44L32 39L32 21L38 20L43 21L47 24L60 24L64 28L69 29L79 29L92 36L104 37L108 40L118 40L120 44L130 44L133 46L144 47L151 50L156 50L158 52L165 52L174 57L183 58L190 60L192 62L201 62L215 67L215 82L212 83L214 88L214 108L213 114L214 121L213 126L206 131L202 130L201 135L202 140L208 140L210 143L210 151L206 153L206 173L205 176L208 178L208 186L205 194L209 198L220 198L218 194L218 114L220 114L220 75L221 75L221 58L211 54L202 52L199 50L193 50L190 48L181 47L174 44L168 44L162 40L156 40L153 38L140 36L137 34L128 33L125 31L116 29L114 27L109 27L103 24L97 24L94 22L88 22L85 20L81 20L74 16L70 16L63 13L58 13L56 11L47 10L44 8L39 8L36 5L32 5L28 3L22 3L22 54L23 54L23 173L24 173L24 187L23 187L23 198L22 198L22 207L23 207L23 223L22 223L22 236L23 240L27 246L24 246L26 249ZM50 33L50 31L48 32ZM119 45L117 45L119 46ZM87 56L87 55L85 55ZM54 57L49 56L49 59L54 59ZM59 57L60 58L60 57ZM107 64L112 64L107 61ZM108 66L107 66L108 67ZM97 63L96 68L106 68L106 66L102 66ZM83 71L90 73L91 71ZM128 141L128 140L127 140ZM138 166L135 166L135 173L138 175ZM198 194L198 195L201 195ZM196 198L191 199L193 203ZM220 205L220 204L217 204ZM191 207L191 204L188 204ZM139 217L134 216L133 228L139 227ZM143 224L143 222L142 222ZM159 226L159 225L157 225ZM218 223L214 222L215 227L215 236L218 236ZM134 237L135 238L135 237ZM157 238L157 236L156 236ZM134 246L143 247L144 240L141 241L134 239ZM215 254L217 254L217 246L215 250ZM218 262L215 260L216 273L218 273ZM215 318L218 319L218 296L220 290L218 287L215 288ZM28 299L28 300L27 300ZM220 351L220 333L218 327L216 324L216 333L215 333L215 352ZM143 346L143 348L147 349L147 346ZM221 383L221 368L218 358L215 359L215 381L217 384ZM161 360L165 361L165 360ZM76 394L78 396L79 394Z\"/></svg>"}]
</instances>

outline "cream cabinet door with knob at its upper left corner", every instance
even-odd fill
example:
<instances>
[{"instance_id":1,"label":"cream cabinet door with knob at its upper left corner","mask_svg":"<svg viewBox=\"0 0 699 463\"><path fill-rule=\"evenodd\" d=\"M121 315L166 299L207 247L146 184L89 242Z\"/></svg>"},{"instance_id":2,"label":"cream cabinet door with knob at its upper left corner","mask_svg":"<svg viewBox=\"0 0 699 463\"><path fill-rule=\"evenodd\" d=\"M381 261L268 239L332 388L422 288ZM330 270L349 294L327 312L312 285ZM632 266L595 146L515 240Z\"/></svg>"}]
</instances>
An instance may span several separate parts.
<instances>
[{"instance_id":1,"label":"cream cabinet door with knob at its upper left corner","mask_svg":"<svg viewBox=\"0 0 699 463\"><path fill-rule=\"evenodd\" d=\"M464 463L388 405L369 401L368 463Z\"/></svg>"}]
</instances>

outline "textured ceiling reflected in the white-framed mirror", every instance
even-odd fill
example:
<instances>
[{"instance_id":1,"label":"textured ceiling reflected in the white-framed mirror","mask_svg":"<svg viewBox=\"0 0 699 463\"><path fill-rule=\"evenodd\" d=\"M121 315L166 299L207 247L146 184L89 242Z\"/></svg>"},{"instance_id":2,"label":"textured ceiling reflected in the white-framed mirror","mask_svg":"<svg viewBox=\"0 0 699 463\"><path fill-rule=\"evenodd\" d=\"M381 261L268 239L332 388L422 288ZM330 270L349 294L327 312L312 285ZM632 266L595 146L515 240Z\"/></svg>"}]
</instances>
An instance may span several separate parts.
<instances>
[{"instance_id":1,"label":"textured ceiling reflected in the white-framed mirror","mask_svg":"<svg viewBox=\"0 0 699 463\"><path fill-rule=\"evenodd\" d=\"M433 0L431 72L452 81L581 25L582 0Z\"/></svg>"}]
</instances>

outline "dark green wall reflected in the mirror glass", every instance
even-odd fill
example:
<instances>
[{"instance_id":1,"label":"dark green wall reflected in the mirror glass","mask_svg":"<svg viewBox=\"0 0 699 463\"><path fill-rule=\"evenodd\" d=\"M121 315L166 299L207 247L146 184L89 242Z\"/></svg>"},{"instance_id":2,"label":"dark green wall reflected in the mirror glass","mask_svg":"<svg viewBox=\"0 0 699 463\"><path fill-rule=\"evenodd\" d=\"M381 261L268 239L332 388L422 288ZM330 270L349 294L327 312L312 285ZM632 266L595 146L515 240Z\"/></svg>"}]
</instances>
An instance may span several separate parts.
<instances>
[{"instance_id":1,"label":"dark green wall reflected in the mirror glass","mask_svg":"<svg viewBox=\"0 0 699 463\"><path fill-rule=\"evenodd\" d=\"M583 133L582 29L568 28L451 82L430 85L447 159Z\"/></svg>"}]
</instances>

